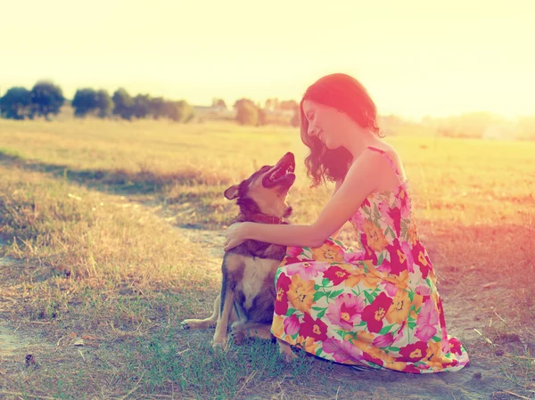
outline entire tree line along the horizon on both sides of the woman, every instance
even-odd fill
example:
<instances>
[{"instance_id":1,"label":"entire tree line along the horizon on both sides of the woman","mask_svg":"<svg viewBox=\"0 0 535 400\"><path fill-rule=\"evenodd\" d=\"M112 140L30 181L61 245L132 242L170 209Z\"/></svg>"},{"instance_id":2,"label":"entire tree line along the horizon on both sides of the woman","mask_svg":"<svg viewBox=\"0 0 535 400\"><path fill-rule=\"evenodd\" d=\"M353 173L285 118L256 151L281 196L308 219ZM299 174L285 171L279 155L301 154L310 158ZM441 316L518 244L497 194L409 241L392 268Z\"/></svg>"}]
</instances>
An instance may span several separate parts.
<instances>
[{"instance_id":1,"label":"entire tree line along the horizon on both sides of the woman","mask_svg":"<svg viewBox=\"0 0 535 400\"><path fill-rule=\"evenodd\" d=\"M0 97L0 118L33 119L44 117L50 120L67 103L62 88L51 81L38 81L31 90L15 86ZM189 122L195 118L195 109L184 100L169 101L149 94L131 96L124 88L113 94L106 90L80 88L74 94L70 105L76 118L88 115L96 118L169 118L177 122ZM211 110L210 110L211 109ZM238 124L249 126L291 125L300 127L299 103L294 100L279 101L269 98L263 104L241 98L234 103L233 113L228 113L223 99L212 99L206 118L235 119ZM221 112L223 110L224 112ZM196 110L203 120L202 111ZM448 118L426 117L420 123L413 123L395 116L379 116L380 125L386 131L403 133L434 132L436 135L452 137L504 137L534 139L535 117L523 116L508 121L501 116L485 112L469 112ZM426 135L431 135L427 133Z\"/></svg>"}]
</instances>

